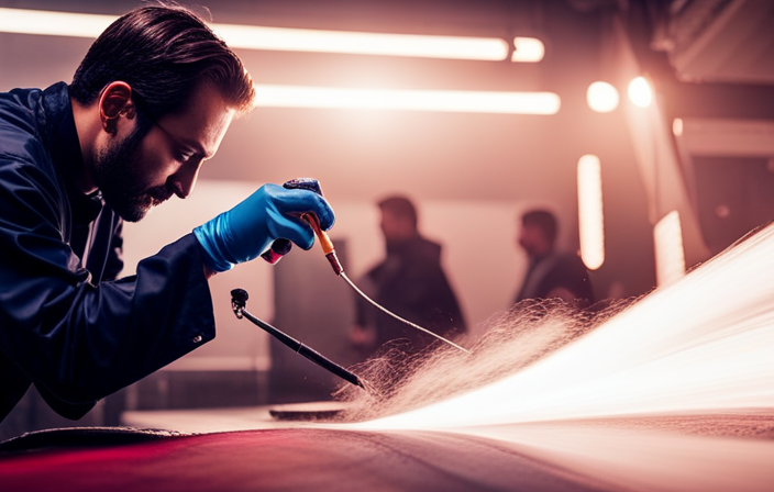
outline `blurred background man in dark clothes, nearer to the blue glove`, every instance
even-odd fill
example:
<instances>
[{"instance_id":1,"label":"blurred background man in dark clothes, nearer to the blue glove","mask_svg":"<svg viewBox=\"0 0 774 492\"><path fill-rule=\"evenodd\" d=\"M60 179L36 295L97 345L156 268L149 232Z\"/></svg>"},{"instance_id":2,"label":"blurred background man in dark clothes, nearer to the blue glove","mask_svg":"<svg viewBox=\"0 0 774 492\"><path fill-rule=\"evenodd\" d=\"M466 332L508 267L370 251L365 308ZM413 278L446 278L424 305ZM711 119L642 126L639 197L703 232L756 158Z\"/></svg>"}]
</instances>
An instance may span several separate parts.
<instances>
[{"instance_id":1,"label":"blurred background man in dark clothes, nearer to the blue glove","mask_svg":"<svg viewBox=\"0 0 774 492\"><path fill-rule=\"evenodd\" d=\"M389 197L378 205L387 256L366 273L364 288L377 303L408 321L444 337L462 335L465 320L441 268L441 245L420 235L417 210L407 198ZM407 353L435 340L357 299L351 340L364 355L390 340Z\"/></svg>"}]
</instances>

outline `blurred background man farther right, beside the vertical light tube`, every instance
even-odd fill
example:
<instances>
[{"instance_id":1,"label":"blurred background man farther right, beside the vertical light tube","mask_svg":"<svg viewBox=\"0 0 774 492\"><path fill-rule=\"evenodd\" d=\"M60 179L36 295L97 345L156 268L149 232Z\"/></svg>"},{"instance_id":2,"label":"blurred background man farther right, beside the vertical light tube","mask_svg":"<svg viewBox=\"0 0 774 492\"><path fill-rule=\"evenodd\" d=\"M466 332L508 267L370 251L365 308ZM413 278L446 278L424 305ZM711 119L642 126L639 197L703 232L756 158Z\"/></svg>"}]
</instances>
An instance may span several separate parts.
<instances>
[{"instance_id":1,"label":"blurred background man farther right, beside the vertical light tube","mask_svg":"<svg viewBox=\"0 0 774 492\"><path fill-rule=\"evenodd\" d=\"M518 244L529 258L529 269L515 302L524 299L562 299L594 303L588 271L577 255L555 250L556 219L545 210L521 216Z\"/></svg>"}]
</instances>

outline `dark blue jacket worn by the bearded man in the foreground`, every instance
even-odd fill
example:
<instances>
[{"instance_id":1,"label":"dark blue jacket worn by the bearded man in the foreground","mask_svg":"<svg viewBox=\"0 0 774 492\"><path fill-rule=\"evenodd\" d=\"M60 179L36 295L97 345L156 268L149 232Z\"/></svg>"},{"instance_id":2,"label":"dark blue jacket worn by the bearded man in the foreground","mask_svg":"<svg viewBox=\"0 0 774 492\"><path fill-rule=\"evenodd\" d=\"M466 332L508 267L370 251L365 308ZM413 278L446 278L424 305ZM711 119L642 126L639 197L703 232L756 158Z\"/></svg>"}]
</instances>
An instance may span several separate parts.
<instances>
[{"instance_id":1,"label":"dark blue jacket worn by the bearded man in the foreground","mask_svg":"<svg viewBox=\"0 0 774 492\"><path fill-rule=\"evenodd\" d=\"M79 418L214 338L195 236L115 280L122 221L78 191L82 166L66 83L0 93L0 421L31 383Z\"/></svg>"}]
</instances>

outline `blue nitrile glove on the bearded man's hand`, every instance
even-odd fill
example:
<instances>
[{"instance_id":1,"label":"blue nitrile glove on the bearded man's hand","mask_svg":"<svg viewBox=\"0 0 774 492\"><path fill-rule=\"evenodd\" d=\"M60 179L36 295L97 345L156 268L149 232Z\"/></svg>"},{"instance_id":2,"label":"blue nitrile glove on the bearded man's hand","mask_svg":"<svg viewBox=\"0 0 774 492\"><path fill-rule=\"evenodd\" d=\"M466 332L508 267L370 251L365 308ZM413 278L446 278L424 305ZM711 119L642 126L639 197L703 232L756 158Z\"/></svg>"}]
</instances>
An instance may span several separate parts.
<instances>
[{"instance_id":1,"label":"blue nitrile glove on the bearded man's hand","mask_svg":"<svg viewBox=\"0 0 774 492\"><path fill-rule=\"evenodd\" d=\"M264 185L230 211L196 227L194 234L204 250L204 264L213 271L225 271L256 258L279 238L311 248L314 232L301 219L308 212L320 219L323 230L333 226L333 210L322 195Z\"/></svg>"}]
</instances>

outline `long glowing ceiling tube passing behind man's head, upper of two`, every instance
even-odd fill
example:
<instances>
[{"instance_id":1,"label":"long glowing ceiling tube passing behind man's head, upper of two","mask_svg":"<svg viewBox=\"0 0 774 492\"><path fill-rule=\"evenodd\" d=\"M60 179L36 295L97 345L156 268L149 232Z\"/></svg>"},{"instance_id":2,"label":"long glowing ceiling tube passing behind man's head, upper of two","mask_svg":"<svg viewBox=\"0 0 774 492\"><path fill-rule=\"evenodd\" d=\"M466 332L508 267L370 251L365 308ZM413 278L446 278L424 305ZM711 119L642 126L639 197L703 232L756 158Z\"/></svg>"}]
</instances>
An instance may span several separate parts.
<instances>
[{"instance_id":1,"label":"long glowing ceiling tube passing behind man's head, upper of two","mask_svg":"<svg viewBox=\"0 0 774 492\"><path fill-rule=\"evenodd\" d=\"M0 32L97 37L115 19L115 15L0 8ZM476 60L502 60L508 56L508 43L499 37L382 34L219 23L210 26L233 48ZM539 54L542 48L540 40L517 37L515 42L523 55L515 62L539 62L542 58L542 53Z\"/></svg>"}]
</instances>

